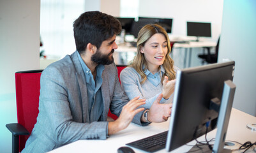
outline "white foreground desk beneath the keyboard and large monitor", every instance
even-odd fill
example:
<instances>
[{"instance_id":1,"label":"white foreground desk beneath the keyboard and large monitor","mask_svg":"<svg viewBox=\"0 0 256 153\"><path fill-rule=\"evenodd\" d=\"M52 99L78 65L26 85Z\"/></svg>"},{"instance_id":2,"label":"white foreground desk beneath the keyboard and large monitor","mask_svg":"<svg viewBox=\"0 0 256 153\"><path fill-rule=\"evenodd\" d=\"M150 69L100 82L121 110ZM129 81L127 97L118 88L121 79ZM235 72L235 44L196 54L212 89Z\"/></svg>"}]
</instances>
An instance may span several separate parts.
<instances>
[{"instance_id":1,"label":"white foreground desk beneath the keyboard and large monitor","mask_svg":"<svg viewBox=\"0 0 256 153\"><path fill-rule=\"evenodd\" d=\"M245 143L251 141L252 143L256 141L256 131L252 131L246 128L246 124L256 123L256 117L248 115L247 113L241 112L232 108L230 115L229 128L227 131L226 140L233 140L240 143ZM64 145L55 150L52 150L50 153L64 153L64 152L117 152L119 147L125 146L126 143L139 140L140 138L145 138L162 131L166 131L169 128L169 120L163 123L152 123L149 126L142 127L136 124L130 124L128 128L111 135L107 140L79 140L77 142ZM216 129L207 134L207 140L215 138ZM204 136L201 136L199 141L204 141ZM195 145L195 141L190 142L189 144ZM192 147L188 145L183 145L176 150L173 150L172 153L176 152L187 152ZM135 149L135 152L144 152L139 149ZM167 152L165 149L158 152Z\"/></svg>"}]
</instances>

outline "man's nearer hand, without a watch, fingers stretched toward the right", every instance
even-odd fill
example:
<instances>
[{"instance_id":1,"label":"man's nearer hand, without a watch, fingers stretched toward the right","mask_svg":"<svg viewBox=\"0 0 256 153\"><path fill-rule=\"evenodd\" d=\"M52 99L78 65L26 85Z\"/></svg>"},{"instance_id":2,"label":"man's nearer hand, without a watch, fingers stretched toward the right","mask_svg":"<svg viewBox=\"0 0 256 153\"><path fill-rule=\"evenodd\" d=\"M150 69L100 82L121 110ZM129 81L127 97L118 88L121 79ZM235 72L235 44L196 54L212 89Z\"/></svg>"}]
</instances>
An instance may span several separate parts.
<instances>
[{"instance_id":1,"label":"man's nearer hand, without a watch, fingers stretched toward the right","mask_svg":"<svg viewBox=\"0 0 256 153\"><path fill-rule=\"evenodd\" d=\"M122 129L127 128L127 126L132 122L133 117L144 110L144 108L138 108L140 105L145 104L146 99L139 99L139 96L133 98L126 105L123 106L123 110L114 122L109 122L109 135L117 133Z\"/></svg>"}]
</instances>

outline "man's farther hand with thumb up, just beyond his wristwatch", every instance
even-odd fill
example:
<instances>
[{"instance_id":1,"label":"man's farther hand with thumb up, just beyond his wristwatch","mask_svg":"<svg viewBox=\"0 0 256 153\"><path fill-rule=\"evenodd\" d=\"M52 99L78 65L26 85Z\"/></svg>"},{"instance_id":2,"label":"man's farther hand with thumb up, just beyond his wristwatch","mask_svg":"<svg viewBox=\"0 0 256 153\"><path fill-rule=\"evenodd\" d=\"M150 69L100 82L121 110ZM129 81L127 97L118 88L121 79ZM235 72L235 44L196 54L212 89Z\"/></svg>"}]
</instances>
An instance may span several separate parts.
<instances>
[{"instance_id":1,"label":"man's farther hand with thumb up, just beyond his wristwatch","mask_svg":"<svg viewBox=\"0 0 256 153\"><path fill-rule=\"evenodd\" d=\"M170 117L170 113L172 110L172 103L169 104L160 104L160 100L162 99L163 94L160 94L158 98L154 101L153 105L149 109L147 113L147 119L150 122L164 122L167 121Z\"/></svg>"}]
</instances>

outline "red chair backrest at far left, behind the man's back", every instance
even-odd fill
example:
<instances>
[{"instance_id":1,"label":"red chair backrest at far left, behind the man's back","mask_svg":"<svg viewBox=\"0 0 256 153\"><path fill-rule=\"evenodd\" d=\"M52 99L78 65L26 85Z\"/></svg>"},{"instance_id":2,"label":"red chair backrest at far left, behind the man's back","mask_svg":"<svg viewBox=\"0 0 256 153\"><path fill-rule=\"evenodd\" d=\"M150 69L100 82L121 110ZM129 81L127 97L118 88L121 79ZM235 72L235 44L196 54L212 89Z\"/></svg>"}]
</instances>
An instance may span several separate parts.
<instances>
[{"instance_id":1,"label":"red chair backrest at far left, behind the man's back","mask_svg":"<svg viewBox=\"0 0 256 153\"><path fill-rule=\"evenodd\" d=\"M38 116L38 103L40 95L40 70L19 71L15 73L17 119L29 133L36 124ZM19 138L19 151L25 147L29 135L22 135Z\"/></svg>"}]
</instances>

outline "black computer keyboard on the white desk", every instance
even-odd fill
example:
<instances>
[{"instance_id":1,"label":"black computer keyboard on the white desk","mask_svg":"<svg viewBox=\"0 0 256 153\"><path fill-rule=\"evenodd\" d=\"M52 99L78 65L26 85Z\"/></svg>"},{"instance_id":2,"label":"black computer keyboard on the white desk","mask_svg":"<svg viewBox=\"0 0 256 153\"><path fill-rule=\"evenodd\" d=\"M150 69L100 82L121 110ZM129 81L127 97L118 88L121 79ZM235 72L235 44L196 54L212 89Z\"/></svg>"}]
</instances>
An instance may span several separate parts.
<instances>
[{"instance_id":1,"label":"black computer keyboard on the white desk","mask_svg":"<svg viewBox=\"0 0 256 153\"><path fill-rule=\"evenodd\" d=\"M167 133L168 131L158 133L147 138L142 138L135 142L127 143L126 145L130 145L131 147L135 147L146 152L156 152L165 148Z\"/></svg>"}]
</instances>

